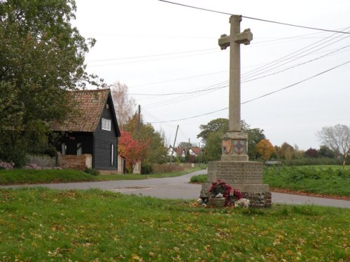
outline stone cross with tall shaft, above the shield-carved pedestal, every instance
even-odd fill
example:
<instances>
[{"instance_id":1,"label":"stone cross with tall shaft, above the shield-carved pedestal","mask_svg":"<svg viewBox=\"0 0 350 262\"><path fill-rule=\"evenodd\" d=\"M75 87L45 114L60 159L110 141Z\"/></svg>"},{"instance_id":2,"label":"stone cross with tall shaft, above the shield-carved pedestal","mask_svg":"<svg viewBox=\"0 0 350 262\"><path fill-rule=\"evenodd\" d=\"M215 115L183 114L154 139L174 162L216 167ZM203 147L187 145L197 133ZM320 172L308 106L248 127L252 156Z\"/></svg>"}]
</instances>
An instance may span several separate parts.
<instances>
[{"instance_id":1,"label":"stone cross with tall shaft, above the shield-carved pedestal","mask_svg":"<svg viewBox=\"0 0 350 262\"><path fill-rule=\"evenodd\" d=\"M253 40L251 29L241 32L241 15L231 15L230 36L223 34L218 40L221 50L230 46L230 94L229 94L229 131L241 131L241 54L240 44L249 45Z\"/></svg>"}]
</instances>

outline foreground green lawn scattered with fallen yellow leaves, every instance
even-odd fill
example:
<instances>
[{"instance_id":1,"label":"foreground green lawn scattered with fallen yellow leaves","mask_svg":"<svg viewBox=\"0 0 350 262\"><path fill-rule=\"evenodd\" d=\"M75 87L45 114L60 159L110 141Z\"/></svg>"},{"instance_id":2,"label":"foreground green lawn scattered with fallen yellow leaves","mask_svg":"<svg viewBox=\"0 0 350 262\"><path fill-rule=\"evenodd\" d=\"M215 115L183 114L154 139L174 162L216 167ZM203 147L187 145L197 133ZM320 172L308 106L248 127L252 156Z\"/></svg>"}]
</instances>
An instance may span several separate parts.
<instances>
[{"instance_id":1,"label":"foreground green lawn scattered with fallen yellow leaves","mask_svg":"<svg viewBox=\"0 0 350 262\"><path fill-rule=\"evenodd\" d=\"M0 261L349 261L350 210L0 190Z\"/></svg>"}]
</instances>

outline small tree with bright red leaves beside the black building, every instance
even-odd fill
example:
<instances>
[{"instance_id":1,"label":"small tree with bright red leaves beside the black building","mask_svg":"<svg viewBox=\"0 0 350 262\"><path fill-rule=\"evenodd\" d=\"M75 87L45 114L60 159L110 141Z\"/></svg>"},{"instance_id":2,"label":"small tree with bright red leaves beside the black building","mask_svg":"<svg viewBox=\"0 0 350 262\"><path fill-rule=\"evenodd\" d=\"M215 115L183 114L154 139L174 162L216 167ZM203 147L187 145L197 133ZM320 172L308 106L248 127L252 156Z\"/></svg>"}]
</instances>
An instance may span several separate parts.
<instances>
[{"instance_id":1,"label":"small tree with bright red leaves beside the black building","mask_svg":"<svg viewBox=\"0 0 350 262\"><path fill-rule=\"evenodd\" d=\"M151 140L135 140L130 132L121 131L118 140L118 154L125 158L128 173L132 173L135 165L147 157Z\"/></svg>"}]
</instances>

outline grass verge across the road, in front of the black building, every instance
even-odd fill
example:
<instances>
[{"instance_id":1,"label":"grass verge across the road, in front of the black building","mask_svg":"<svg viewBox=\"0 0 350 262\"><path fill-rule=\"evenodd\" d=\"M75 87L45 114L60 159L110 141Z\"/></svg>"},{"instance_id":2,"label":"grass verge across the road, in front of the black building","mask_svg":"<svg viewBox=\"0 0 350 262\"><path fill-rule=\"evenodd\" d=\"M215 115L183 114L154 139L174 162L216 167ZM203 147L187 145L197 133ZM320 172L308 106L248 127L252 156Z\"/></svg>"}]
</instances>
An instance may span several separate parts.
<instances>
[{"instance_id":1,"label":"grass verge across the road, in front of the black building","mask_svg":"<svg viewBox=\"0 0 350 262\"><path fill-rule=\"evenodd\" d=\"M39 183L66 183L80 181L102 180L144 180L148 177L176 177L185 175L201 168L187 168L174 173L157 173L151 175L120 174L120 175L90 175L80 170L34 170L34 169L0 169L0 184L39 184Z\"/></svg>"}]
</instances>

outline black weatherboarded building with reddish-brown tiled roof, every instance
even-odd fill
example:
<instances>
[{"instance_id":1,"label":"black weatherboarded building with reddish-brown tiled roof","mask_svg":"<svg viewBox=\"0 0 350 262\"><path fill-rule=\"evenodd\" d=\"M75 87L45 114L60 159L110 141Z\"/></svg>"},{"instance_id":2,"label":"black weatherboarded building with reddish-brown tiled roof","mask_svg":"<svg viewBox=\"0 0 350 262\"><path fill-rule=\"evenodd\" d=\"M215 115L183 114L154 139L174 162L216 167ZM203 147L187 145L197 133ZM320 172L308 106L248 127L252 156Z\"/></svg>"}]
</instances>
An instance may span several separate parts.
<instances>
[{"instance_id":1,"label":"black weatherboarded building with reddish-brown tiled roof","mask_svg":"<svg viewBox=\"0 0 350 262\"><path fill-rule=\"evenodd\" d=\"M78 112L53 131L63 132L57 150L62 155L92 155L92 168L118 170L120 131L110 89L81 90L70 93Z\"/></svg>"}]
</instances>

